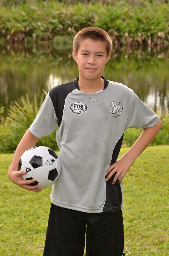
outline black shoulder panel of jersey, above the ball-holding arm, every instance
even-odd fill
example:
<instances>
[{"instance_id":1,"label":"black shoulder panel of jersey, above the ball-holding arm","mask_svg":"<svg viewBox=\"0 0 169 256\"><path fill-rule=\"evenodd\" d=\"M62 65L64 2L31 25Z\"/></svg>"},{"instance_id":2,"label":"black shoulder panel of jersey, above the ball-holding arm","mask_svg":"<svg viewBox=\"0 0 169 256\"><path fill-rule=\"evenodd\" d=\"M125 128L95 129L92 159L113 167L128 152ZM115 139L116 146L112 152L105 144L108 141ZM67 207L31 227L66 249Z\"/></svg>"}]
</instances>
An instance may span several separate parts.
<instances>
[{"instance_id":1,"label":"black shoulder panel of jersey, above the ball-holding arm","mask_svg":"<svg viewBox=\"0 0 169 256\"><path fill-rule=\"evenodd\" d=\"M49 91L49 96L53 103L54 111L58 119L58 126L60 126L60 123L62 122L65 99L68 94L75 89L76 88L74 87L74 81L72 81L66 84L57 85Z\"/></svg>"}]
</instances>

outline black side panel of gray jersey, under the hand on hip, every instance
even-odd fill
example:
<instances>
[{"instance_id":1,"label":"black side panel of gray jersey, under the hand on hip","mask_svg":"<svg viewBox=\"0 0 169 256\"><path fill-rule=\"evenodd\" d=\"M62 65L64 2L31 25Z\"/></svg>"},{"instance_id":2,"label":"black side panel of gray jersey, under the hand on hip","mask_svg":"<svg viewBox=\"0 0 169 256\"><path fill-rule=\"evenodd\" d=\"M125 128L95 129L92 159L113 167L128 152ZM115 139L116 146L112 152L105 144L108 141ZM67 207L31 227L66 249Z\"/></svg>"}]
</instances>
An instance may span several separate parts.
<instances>
[{"instance_id":1,"label":"black side panel of gray jersey, under the hand on hip","mask_svg":"<svg viewBox=\"0 0 169 256\"><path fill-rule=\"evenodd\" d=\"M123 141L123 136L124 133L115 145L110 165L113 165L113 163L115 163L118 158ZM117 179L116 183L114 185L112 184L115 175L116 172L110 178L110 180L106 181L106 201L104 203L103 212L116 212L121 209L122 193L119 180Z\"/></svg>"}]
</instances>

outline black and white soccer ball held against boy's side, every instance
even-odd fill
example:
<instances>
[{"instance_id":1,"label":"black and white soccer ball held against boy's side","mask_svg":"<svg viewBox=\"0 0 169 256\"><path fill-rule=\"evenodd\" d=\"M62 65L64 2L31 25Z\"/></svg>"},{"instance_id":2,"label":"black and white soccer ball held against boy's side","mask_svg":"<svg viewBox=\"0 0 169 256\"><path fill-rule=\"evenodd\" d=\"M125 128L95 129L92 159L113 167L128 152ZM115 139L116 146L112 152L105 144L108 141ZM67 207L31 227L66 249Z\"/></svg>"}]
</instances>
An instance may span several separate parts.
<instances>
[{"instance_id":1,"label":"black and white soccer ball held against boy's side","mask_svg":"<svg viewBox=\"0 0 169 256\"><path fill-rule=\"evenodd\" d=\"M18 171L26 170L23 180L33 180L29 185L41 185L41 189L53 185L59 178L61 164L57 154L50 148L35 146L27 149L19 161Z\"/></svg>"}]
</instances>

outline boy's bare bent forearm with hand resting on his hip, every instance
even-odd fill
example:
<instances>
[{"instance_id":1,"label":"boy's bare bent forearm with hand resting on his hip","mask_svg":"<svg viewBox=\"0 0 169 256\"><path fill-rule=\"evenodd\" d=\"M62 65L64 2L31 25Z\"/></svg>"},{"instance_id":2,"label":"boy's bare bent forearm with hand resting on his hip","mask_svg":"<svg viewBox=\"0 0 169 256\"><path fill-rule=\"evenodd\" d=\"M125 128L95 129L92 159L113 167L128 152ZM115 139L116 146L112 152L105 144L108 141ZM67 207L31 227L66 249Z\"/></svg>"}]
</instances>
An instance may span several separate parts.
<instances>
[{"instance_id":1,"label":"boy's bare bent forearm with hand resting on his hip","mask_svg":"<svg viewBox=\"0 0 169 256\"><path fill-rule=\"evenodd\" d=\"M133 144L133 146L121 157L119 158L113 165L109 167L107 170L106 181L113 176L116 175L112 181L112 184L115 184L119 175L121 175L119 182L121 183L124 175L130 169L131 165L133 165L136 158L146 149L146 147L152 142L154 137L157 135L158 131L160 131L162 126L161 120L158 121L156 125L151 128L145 128L140 134L139 138Z\"/></svg>"}]
</instances>

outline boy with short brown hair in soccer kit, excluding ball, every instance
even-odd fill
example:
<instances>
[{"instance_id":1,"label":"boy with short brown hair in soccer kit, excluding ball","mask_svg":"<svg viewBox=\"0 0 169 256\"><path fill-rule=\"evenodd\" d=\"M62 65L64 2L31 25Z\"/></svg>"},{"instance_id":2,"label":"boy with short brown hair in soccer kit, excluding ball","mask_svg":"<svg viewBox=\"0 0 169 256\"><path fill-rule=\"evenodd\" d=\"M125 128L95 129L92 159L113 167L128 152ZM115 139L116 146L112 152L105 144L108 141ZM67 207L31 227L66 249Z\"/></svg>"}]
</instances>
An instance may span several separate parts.
<instances>
[{"instance_id":1,"label":"boy with short brown hair in soccer kit, excluding ball","mask_svg":"<svg viewBox=\"0 0 169 256\"><path fill-rule=\"evenodd\" d=\"M122 180L134 160L161 128L157 114L126 86L101 76L112 41L97 27L80 30L73 41L79 77L51 89L27 130L9 168L18 186L41 191L24 181L18 161L39 137L56 125L62 172L53 185L44 256L124 255ZM124 130L144 130L121 158ZM106 180L105 180L106 176ZM87 225L87 229L86 229Z\"/></svg>"}]
</instances>

